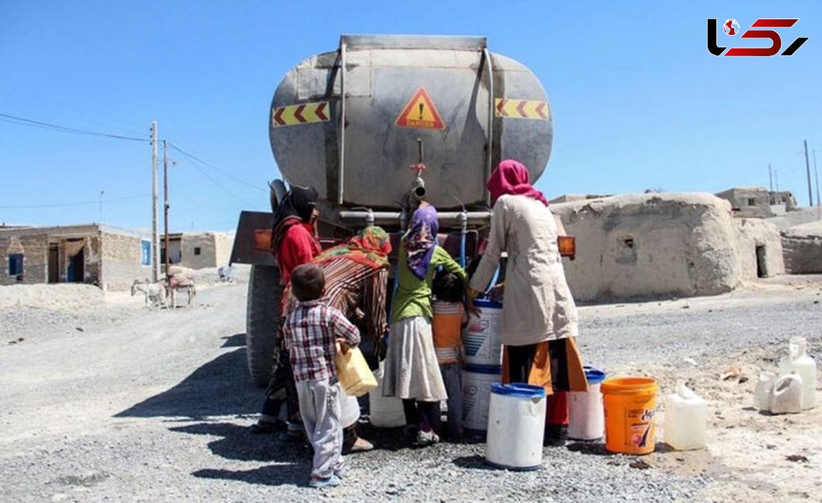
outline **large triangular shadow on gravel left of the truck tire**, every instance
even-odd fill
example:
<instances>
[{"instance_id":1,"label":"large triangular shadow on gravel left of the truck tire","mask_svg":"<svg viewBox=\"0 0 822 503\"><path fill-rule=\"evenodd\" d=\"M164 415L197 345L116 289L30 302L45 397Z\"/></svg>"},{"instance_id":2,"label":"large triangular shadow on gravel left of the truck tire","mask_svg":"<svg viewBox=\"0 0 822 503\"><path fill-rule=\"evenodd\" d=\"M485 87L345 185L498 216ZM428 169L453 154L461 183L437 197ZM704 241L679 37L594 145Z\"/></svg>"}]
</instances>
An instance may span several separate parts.
<instances>
[{"instance_id":1,"label":"large triangular shadow on gravel left of the truck tire","mask_svg":"<svg viewBox=\"0 0 822 503\"><path fill-rule=\"evenodd\" d=\"M233 335L228 340L237 338ZM189 418L242 416L260 412L263 394L246 371L246 350L225 353L205 363L173 388L117 413L115 418Z\"/></svg>"}]
</instances>

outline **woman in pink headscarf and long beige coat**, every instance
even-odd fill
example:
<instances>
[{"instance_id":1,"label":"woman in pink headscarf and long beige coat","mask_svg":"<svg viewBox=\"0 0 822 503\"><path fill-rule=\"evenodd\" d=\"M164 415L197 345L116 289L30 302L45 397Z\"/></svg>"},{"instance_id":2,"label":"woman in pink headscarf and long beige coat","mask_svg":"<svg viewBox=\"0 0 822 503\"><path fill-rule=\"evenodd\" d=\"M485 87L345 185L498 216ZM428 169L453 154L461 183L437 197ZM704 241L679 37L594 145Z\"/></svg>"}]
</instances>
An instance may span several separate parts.
<instances>
[{"instance_id":1,"label":"woman in pink headscarf and long beige coat","mask_svg":"<svg viewBox=\"0 0 822 503\"><path fill-rule=\"evenodd\" d=\"M469 297L487 289L506 252L502 380L545 388L546 438L557 440L567 426L565 392L588 390L575 342L576 306L556 244L557 221L543 193L529 183L528 169L515 160L502 161L487 187L494 205L491 230Z\"/></svg>"}]
</instances>

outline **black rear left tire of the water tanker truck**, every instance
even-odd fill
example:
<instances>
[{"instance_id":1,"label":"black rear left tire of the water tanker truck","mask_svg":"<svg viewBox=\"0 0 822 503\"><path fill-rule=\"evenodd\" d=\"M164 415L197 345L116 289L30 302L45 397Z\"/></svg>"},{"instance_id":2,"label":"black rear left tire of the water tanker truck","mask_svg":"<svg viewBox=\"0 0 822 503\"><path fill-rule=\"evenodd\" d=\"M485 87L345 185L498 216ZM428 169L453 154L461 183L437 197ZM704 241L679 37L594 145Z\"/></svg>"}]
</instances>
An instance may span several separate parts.
<instances>
[{"instance_id":1,"label":"black rear left tire of the water tanker truck","mask_svg":"<svg viewBox=\"0 0 822 503\"><path fill-rule=\"evenodd\" d=\"M279 330L279 268L252 265L246 304L246 356L248 373L255 385L266 386L271 377Z\"/></svg>"}]
</instances>

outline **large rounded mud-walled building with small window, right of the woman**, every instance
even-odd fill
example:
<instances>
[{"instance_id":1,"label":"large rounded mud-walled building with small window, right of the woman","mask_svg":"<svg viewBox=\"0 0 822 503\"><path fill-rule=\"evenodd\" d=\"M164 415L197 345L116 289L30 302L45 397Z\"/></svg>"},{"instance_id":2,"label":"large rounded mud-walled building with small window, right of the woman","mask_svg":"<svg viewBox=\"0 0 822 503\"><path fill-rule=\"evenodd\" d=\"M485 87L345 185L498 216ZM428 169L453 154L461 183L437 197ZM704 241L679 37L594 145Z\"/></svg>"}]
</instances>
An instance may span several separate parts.
<instances>
[{"instance_id":1,"label":"large rounded mud-walled building with small window, right of the woman","mask_svg":"<svg viewBox=\"0 0 822 503\"><path fill-rule=\"evenodd\" d=\"M577 257L575 298L709 295L740 281L730 205L710 194L646 194L552 205Z\"/></svg>"}]
</instances>

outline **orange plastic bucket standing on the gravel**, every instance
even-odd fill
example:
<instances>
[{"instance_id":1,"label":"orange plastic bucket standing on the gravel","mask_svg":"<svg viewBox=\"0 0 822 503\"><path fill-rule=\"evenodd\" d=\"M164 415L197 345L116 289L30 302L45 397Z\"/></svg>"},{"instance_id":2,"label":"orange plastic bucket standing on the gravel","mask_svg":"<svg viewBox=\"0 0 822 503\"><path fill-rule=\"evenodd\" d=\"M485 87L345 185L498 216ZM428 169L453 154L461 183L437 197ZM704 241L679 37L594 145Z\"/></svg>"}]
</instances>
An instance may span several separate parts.
<instances>
[{"instance_id":1,"label":"orange plastic bucket standing on the gravel","mask_svg":"<svg viewBox=\"0 0 822 503\"><path fill-rule=\"evenodd\" d=\"M605 409L605 449L630 455L653 452L657 381L650 377L612 377L599 389Z\"/></svg>"}]
</instances>

